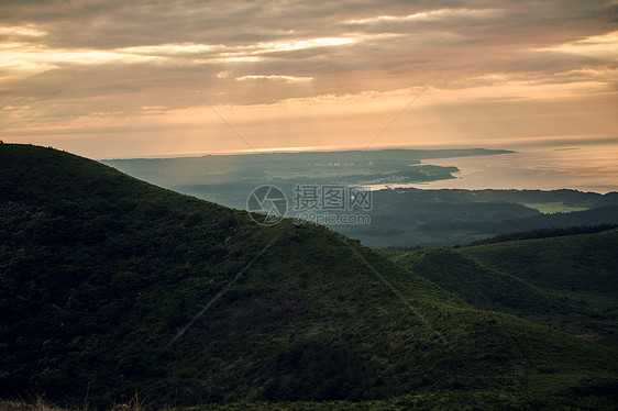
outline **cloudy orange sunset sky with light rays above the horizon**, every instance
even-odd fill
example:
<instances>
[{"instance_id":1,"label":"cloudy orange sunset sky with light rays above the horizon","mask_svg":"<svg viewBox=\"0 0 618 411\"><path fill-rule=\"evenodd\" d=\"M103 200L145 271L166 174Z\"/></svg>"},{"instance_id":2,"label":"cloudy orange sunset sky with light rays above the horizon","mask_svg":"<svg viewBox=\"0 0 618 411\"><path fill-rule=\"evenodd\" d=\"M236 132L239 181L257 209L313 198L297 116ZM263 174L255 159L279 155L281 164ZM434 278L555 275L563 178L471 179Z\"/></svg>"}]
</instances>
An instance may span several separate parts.
<instances>
[{"instance_id":1,"label":"cloudy orange sunset sky with light rays above the horizon","mask_svg":"<svg viewBox=\"0 0 618 411\"><path fill-rule=\"evenodd\" d=\"M0 0L0 140L90 158L616 144L617 82L618 1Z\"/></svg>"}]
</instances>

